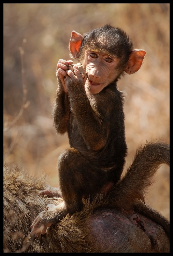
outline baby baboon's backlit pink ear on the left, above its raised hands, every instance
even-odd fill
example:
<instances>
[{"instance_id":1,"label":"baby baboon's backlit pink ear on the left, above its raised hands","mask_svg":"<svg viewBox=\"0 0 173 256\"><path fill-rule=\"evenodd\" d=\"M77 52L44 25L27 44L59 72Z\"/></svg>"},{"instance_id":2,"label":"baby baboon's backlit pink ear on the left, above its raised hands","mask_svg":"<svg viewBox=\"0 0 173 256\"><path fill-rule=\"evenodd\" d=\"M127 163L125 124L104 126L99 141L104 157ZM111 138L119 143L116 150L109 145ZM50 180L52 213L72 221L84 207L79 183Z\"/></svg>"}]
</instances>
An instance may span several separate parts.
<instances>
[{"instance_id":1,"label":"baby baboon's backlit pink ear on the left, above its raised hands","mask_svg":"<svg viewBox=\"0 0 173 256\"><path fill-rule=\"evenodd\" d=\"M74 59L78 58L78 53L80 50L81 43L83 41L83 36L75 31L71 32L70 38L70 52Z\"/></svg>"}]
</instances>

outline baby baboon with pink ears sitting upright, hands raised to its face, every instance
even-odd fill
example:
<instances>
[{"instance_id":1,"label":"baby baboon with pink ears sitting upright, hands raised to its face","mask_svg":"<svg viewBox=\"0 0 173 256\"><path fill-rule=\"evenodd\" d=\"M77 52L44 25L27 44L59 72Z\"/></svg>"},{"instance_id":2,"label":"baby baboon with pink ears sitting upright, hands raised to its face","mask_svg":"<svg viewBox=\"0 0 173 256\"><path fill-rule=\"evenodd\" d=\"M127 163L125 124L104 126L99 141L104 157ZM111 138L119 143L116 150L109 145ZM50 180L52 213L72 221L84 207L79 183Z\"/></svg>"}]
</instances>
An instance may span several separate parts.
<instances>
[{"instance_id":1,"label":"baby baboon with pink ears sitting upright, hands raised to its face","mask_svg":"<svg viewBox=\"0 0 173 256\"><path fill-rule=\"evenodd\" d=\"M127 145L124 96L117 90L117 81L125 72L138 71L146 53L133 49L128 35L111 25L84 36L72 31L69 47L86 75L81 76L77 65L74 73L69 69L73 61L58 61L53 117L57 133L67 132L70 142L58 159L64 206L61 211L42 212L35 219L31 226L35 237L67 214L81 211L84 199L92 201L119 181Z\"/></svg>"}]
</instances>

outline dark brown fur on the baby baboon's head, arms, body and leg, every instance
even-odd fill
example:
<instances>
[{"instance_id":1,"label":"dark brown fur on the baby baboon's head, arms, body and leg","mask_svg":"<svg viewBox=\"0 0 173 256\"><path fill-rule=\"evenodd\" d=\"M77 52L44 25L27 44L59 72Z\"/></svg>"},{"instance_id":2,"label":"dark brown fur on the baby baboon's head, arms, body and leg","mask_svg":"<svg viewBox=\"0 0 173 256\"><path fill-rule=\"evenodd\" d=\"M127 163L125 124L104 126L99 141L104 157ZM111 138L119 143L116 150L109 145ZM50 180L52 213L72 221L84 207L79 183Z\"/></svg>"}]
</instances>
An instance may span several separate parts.
<instances>
[{"instance_id":1,"label":"dark brown fur on the baby baboon's head, arms, body and leg","mask_svg":"<svg viewBox=\"0 0 173 256\"><path fill-rule=\"evenodd\" d=\"M102 36L106 38L104 43ZM68 133L70 143L58 160L60 189L66 203L64 214L81 210L83 197L92 201L100 191L109 190L120 179L127 155L124 99L116 82L127 66L132 42L124 31L109 25L86 33L82 42L75 39L70 40L70 50L81 62L91 48L120 61L117 77L98 94L86 94L83 80L74 81L69 76L65 79L68 93L64 93L58 79L54 123L58 133ZM72 48L77 44L81 45L76 57Z\"/></svg>"}]
</instances>

